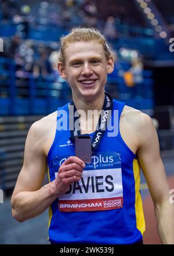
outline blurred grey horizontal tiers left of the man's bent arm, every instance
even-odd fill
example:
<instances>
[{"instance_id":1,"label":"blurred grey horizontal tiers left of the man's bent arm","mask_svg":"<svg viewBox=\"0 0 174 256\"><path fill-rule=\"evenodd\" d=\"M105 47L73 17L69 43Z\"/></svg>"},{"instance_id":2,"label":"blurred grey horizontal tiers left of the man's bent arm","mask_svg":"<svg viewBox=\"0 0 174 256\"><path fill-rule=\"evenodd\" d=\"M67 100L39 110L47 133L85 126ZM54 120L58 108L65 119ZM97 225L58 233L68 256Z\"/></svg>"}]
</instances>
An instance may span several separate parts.
<instances>
[{"instance_id":1,"label":"blurred grey horizontal tiers left of the man's bent arm","mask_svg":"<svg viewBox=\"0 0 174 256\"><path fill-rule=\"evenodd\" d=\"M28 129L42 116L0 118L0 189L10 194L23 165Z\"/></svg>"}]
</instances>

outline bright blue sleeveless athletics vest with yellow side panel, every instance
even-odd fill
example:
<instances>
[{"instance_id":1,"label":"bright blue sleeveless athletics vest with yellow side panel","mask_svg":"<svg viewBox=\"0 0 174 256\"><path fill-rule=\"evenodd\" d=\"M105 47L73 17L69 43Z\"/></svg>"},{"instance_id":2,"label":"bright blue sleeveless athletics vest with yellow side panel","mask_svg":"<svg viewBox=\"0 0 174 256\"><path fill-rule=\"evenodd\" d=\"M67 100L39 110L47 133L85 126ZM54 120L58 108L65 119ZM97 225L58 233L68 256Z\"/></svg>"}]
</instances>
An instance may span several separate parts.
<instances>
[{"instance_id":1,"label":"bright blue sleeveless athletics vest with yellow side panel","mask_svg":"<svg viewBox=\"0 0 174 256\"><path fill-rule=\"evenodd\" d=\"M99 147L94 153L95 156L93 159L95 159L95 162L93 162L93 168L89 170L90 177L88 177L88 182L92 180L91 173L103 173L96 177L96 183L92 180L93 184L90 193L95 194L95 197L97 197L97 194L102 193L110 196L109 193L112 190L113 183L109 174L110 172L113 173L114 177L114 173L117 170L121 170L121 177L119 177L118 181L119 188L115 183L116 190L119 190L119 198L121 198L119 201L120 206L112 208L112 204L116 200L108 200L107 202L110 202L111 207L107 206L108 208L106 210L102 208L98 209L94 206L100 205L100 202L98 203L97 201L97 203L93 204L92 201L92 204L86 204L87 207L90 207L88 210L81 208L80 210L77 209L74 211L73 208L67 210L66 207L68 204L65 202L69 201L62 201L63 203L60 204L60 198L57 198L49 208L48 239L52 243L133 244L143 238L145 222L140 195L140 166L136 155L125 144L119 133L119 119L125 104L115 99L113 103L114 110L118 111L118 134L114 137L109 137L109 131L105 131ZM68 104L57 110L65 111L68 116ZM113 118L114 116L112 115L110 122L113 122ZM57 120L59 119L57 118ZM92 135L90 134L90 136ZM55 140L48 154L48 176L50 182L55 179L56 173L64 159L71 155L75 155L75 149L73 141L70 140L70 130L57 129ZM111 165L112 157L115 159L114 166L117 169L110 169L108 167ZM83 175L87 173L85 171L87 170L84 168ZM104 177L105 173L108 175L103 182L102 177ZM104 184L106 185L105 187ZM73 196L75 193L82 195L86 192L86 196L88 197L89 187L87 188L86 184L84 188L81 188L78 184L77 187L74 186L74 190L72 185L71 189ZM105 192L103 192L104 190ZM71 195L66 196L71 199ZM107 200L108 198L105 199ZM82 200L82 202L85 202L85 200ZM91 201L89 200L89 202ZM58 204L64 208L64 211L60 211L60 205ZM79 206L77 203L71 205L71 207L74 207L74 205L77 208ZM81 207L85 207L84 205L81 204ZM106 205L108 204L106 203Z\"/></svg>"}]
</instances>

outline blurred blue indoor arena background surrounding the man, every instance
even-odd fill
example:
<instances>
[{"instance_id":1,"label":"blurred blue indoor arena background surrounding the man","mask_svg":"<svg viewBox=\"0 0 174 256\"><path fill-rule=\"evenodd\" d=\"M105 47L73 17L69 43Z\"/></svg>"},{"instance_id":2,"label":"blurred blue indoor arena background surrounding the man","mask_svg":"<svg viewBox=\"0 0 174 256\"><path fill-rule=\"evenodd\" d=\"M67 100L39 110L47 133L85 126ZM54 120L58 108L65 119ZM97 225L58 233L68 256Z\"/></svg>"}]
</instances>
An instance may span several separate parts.
<instances>
[{"instance_id":1,"label":"blurred blue indoor arena background surrounding the man","mask_svg":"<svg viewBox=\"0 0 174 256\"><path fill-rule=\"evenodd\" d=\"M48 243L48 212L17 223L10 195L31 124L71 99L52 67L60 36L74 26L97 27L113 45L117 60L106 91L153 118L174 189L174 1L0 0L0 244ZM141 188L144 243L160 244L143 176Z\"/></svg>"}]
</instances>

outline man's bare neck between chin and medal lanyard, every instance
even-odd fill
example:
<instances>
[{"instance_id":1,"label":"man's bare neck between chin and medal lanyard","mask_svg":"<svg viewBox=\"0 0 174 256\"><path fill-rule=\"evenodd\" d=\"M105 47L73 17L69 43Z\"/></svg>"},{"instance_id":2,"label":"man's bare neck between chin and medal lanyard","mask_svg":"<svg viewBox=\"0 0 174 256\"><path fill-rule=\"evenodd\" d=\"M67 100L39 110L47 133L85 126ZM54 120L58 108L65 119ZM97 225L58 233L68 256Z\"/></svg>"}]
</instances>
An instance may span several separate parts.
<instances>
[{"instance_id":1,"label":"man's bare neck between chin and medal lanyard","mask_svg":"<svg viewBox=\"0 0 174 256\"><path fill-rule=\"evenodd\" d=\"M85 112L88 110L97 110L100 111L103 108L104 104L104 91L95 97L81 97L79 98L77 95L73 95L73 101L77 110L81 109Z\"/></svg>"}]
</instances>

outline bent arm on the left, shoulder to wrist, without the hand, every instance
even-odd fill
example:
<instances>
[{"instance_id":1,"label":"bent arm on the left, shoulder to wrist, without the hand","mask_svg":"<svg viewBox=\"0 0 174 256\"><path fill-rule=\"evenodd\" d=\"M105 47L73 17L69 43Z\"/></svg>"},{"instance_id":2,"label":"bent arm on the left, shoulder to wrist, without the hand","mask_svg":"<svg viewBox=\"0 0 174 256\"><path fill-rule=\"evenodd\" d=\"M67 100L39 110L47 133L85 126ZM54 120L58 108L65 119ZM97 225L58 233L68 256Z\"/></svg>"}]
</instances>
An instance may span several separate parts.
<instances>
[{"instance_id":1,"label":"bent arm on the left, shoulder to wrist, without the hand","mask_svg":"<svg viewBox=\"0 0 174 256\"><path fill-rule=\"evenodd\" d=\"M23 168L12 195L12 215L17 221L37 216L45 211L54 199L49 186L42 186L46 169L43 138L40 125L31 126L24 151Z\"/></svg>"}]
</instances>

